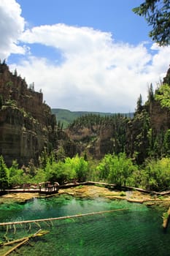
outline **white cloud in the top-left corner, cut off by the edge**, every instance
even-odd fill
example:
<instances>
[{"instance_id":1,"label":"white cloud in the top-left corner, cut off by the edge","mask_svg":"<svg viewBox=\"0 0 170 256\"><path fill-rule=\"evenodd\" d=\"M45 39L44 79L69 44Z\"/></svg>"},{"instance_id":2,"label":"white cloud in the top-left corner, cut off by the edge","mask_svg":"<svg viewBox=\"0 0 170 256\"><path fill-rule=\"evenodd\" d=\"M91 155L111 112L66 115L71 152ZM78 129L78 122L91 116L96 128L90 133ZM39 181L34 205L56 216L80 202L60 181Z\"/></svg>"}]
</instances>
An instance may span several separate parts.
<instances>
[{"instance_id":1,"label":"white cloud in the top-left corner, cut off by the edge","mask_svg":"<svg viewBox=\"0 0 170 256\"><path fill-rule=\"evenodd\" d=\"M0 59L7 59L11 53L25 52L17 45L18 37L24 29L24 19L20 16L20 5L15 0L0 0Z\"/></svg>"}]
</instances>

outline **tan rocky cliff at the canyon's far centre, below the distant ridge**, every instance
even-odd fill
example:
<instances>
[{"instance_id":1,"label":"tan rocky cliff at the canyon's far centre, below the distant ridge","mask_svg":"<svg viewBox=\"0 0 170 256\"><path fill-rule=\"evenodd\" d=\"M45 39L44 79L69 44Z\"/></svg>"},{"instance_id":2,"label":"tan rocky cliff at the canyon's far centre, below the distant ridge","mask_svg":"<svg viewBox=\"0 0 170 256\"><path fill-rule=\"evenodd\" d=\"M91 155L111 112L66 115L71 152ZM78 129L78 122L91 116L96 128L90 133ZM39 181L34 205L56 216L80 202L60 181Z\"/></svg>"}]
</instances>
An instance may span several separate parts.
<instances>
[{"instance_id":1,"label":"tan rocky cliff at the canyon's far centre, below the distant ridge","mask_svg":"<svg viewBox=\"0 0 170 256\"><path fill-rule=\"evenodd\" d=\"M99 124L75 125L66 133L77 146L77 152L86 152L90 157L101 159L105 154L118 154L123 151L126 118L101 118ZM121 128L120 128L121 127Z\"/></svg>"}]
</instances>

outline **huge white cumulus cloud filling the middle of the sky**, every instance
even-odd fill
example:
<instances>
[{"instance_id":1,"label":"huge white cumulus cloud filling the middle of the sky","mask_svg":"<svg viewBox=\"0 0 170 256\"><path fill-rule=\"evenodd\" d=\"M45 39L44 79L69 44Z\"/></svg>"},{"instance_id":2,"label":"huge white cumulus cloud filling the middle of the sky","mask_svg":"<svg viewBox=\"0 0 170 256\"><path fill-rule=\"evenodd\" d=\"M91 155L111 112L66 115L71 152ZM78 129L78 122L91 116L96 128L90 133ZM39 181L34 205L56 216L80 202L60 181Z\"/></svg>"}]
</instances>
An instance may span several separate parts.
<instances>
[{"instance_id":1,"label":"huge white cumulus cloud filling the middle of the sky","mask_svg":"<svg viewBox=\"0 0 170 256\"><path fill-rule=\"evenodd\" d=\"M26 30L20 40L61 50L60 64L29 56L18 65L52 108L134 111L139 94L146 99L147 86L163 78L170 61L168 47L153 45L151 54L144 43L115 42L112 34L87 27L39 26Z\"/></svg>"}]
</instances>

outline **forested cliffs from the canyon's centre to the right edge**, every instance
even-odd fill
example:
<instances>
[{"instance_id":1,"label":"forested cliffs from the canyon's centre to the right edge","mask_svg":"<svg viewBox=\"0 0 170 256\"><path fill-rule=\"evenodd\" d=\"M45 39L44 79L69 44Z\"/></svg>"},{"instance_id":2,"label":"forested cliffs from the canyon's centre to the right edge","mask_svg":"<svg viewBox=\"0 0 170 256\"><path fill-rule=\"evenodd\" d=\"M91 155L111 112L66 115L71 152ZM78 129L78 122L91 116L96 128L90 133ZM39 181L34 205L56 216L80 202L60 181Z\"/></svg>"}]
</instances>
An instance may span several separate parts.
<instances>
[{"instance_id":1,"label":"forested cliffs from the canyon's centre to the right edge","mask_svg":"<svg viewBox=\"0 0 170 256\"><path fill-rule=\"evenodd\" d=\"M147 102L142 96L136 102L134 118L117 114L80 116L66 129L79 152L100 159L104 154L125 152L138 164L145 159L170 155L170 71L163 83L153 91L148 89Z\"/></svg>"}]
</instances>

